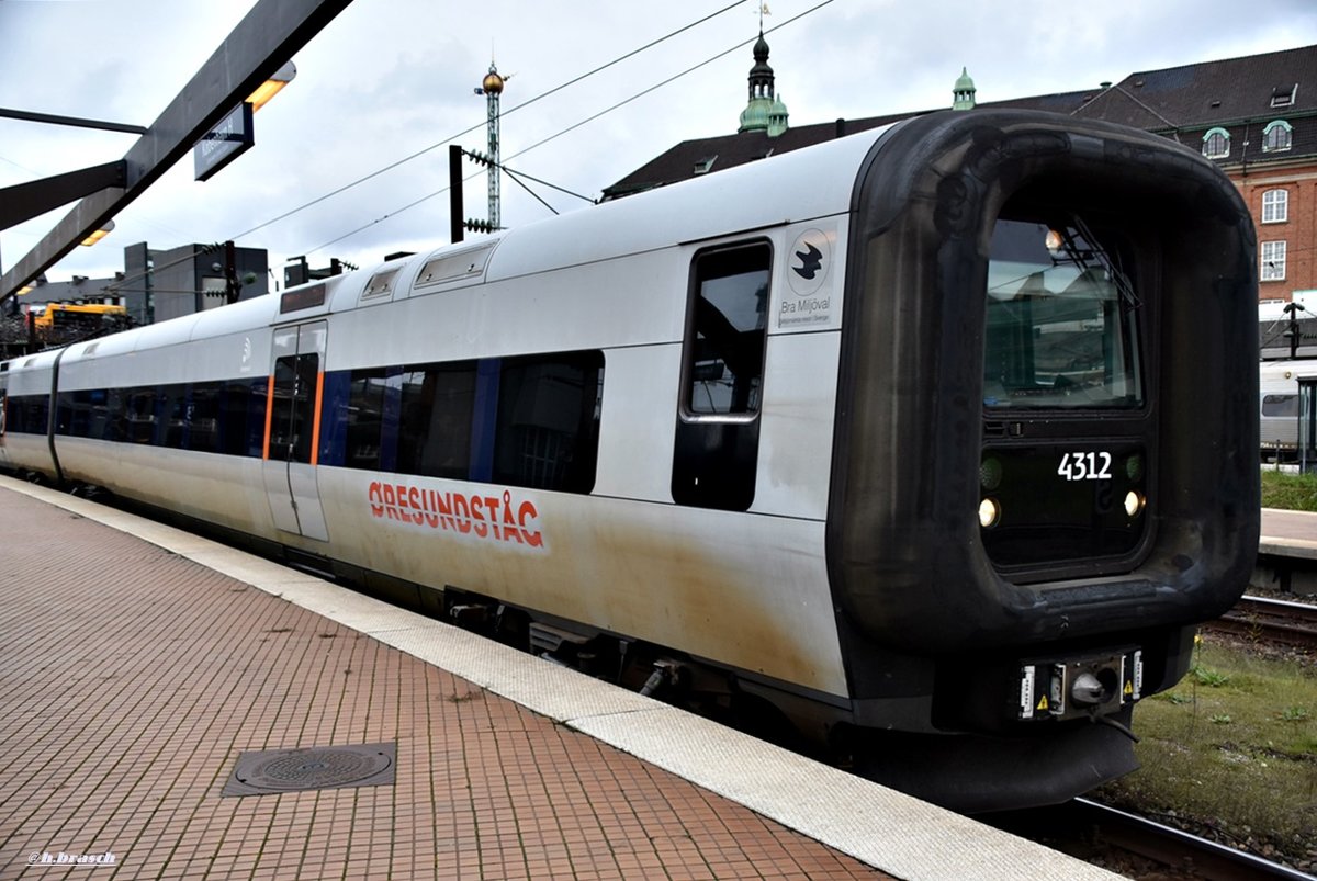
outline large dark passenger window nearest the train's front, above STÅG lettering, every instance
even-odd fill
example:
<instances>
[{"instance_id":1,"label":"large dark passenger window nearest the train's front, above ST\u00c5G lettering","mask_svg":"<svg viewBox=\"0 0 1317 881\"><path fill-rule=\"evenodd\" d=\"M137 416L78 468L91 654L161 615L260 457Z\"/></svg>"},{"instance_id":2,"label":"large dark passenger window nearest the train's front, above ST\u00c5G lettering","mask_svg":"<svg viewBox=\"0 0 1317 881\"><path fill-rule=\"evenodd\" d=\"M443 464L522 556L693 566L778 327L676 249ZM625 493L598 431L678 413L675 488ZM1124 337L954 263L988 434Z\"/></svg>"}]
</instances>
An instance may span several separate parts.
<instances>
[{"instance_id":1,"label":"large dark passenger window nearest the train's front, above ST\u00c5G lettering","mask_svg":"<svg viewBox=\"0 0 1317 881\"><path fill-rule=\"evenodd\" d=\"M590 493L599 453L602 404L602 352L503 358L493 481Z\"/></svg>"}]
</instances>

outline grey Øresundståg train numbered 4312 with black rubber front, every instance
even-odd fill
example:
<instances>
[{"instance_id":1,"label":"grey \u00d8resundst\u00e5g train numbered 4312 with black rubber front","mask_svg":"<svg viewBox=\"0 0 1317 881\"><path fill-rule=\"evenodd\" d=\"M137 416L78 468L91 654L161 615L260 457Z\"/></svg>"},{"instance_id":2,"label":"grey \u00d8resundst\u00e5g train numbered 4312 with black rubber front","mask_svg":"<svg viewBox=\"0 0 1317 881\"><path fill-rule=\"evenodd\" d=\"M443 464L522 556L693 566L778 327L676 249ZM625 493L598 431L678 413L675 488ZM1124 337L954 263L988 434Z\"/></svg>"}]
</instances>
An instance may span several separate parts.
<instances>
[{"instance_id":1,"label":"grey \u00d8resundst\u00e5g train numbered 4312 with black rubber front","mask_svg":"<svg viewBox=\"0 0 1317 881\"><path fill-rule=\"evenodd\" d=\"M938 113L5 363L0 465L1044 803L1246 585L1254 266L1192 150Z\"/></svg>"}]
</instances>

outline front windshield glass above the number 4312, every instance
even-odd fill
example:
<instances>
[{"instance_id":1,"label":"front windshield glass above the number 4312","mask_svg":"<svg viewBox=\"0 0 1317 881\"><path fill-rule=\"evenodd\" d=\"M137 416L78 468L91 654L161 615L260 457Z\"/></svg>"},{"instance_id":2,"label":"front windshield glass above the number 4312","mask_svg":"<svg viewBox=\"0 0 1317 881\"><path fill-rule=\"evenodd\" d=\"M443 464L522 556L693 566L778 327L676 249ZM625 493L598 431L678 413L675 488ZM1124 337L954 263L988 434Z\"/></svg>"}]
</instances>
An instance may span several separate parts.
<instances>
[{"instance_id":1,"label":"front windshield glass above the number 4312","mask_svg":"<svg viewBox=\"0 0 1317 881\"><path fill-rule=\"evenodd\" d=\"M1138 298L1080 219L998 220L988 263L984 406L1143 406Z\"/></svg>"}]
</instances>

